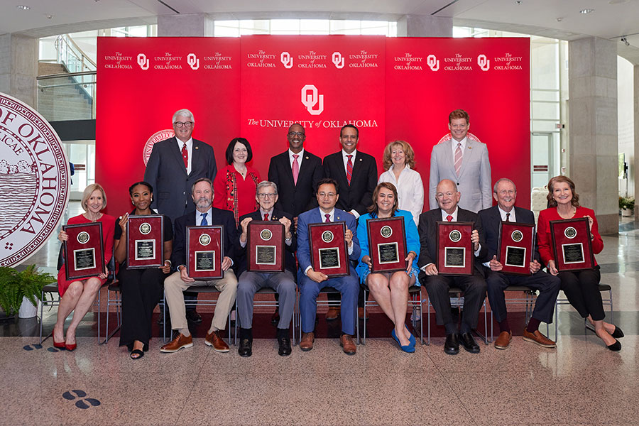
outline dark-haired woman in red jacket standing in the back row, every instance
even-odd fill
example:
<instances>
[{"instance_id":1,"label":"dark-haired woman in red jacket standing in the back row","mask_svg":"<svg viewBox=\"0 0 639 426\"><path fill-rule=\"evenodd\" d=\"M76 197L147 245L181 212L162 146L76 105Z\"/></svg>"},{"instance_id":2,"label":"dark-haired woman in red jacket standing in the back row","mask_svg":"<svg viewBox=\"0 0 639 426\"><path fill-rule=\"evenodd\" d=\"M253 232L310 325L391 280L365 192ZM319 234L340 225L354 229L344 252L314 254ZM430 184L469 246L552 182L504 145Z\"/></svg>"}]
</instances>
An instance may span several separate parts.
<instances>
[{"instance_id":1,"label":"dark-haired woman in red jacket standing in the back row","mask_svg":"<svg viewBox=\"0 0 639 426\"><path fill-rule=\"evenodd\" d=\"M235 216L236 226L243 214L255 212L257 184L261 181L257 170L246 163L253 158L249 141L234 138L226 148L227 165L217 172L213 182L213 207L229 210Z\"/></svg>"}]
</instances>

